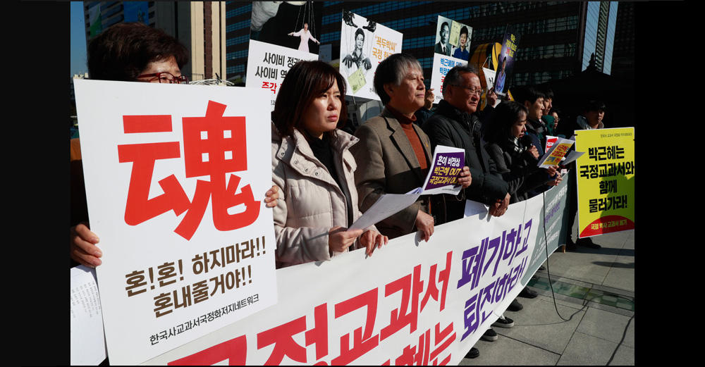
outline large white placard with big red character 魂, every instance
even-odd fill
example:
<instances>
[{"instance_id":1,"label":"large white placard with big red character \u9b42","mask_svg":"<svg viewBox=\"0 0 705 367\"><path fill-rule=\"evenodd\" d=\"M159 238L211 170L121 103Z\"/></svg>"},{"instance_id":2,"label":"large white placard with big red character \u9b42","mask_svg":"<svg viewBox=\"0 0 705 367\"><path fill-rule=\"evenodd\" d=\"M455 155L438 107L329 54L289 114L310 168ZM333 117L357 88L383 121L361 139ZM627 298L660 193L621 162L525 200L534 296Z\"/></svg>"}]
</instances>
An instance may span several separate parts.
<instances>
[{"instance_id":1,"label":"large white placard with big red character \u9b42","mask_svg":"<svg viewBox=\"0 0 705 367\"><path fill-rule=\"evenodd\" d=\"M269 93L76 80L111 364L276 303Z\"/></svg>"}]
</instances>

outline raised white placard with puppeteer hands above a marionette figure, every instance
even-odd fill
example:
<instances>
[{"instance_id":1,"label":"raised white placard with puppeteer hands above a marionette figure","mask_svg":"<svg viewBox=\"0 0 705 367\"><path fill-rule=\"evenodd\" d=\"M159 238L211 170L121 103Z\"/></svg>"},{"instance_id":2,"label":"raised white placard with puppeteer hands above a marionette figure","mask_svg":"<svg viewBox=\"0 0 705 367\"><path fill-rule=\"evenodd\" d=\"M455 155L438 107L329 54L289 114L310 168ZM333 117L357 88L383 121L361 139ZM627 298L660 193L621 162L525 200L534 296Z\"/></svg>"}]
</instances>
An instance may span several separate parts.
<instances>
[{"instance_id":1,"label":"raised white placard with puppeteer hands above a marionette figure","mask_svg":"<svg viewBox=\"0 0 705 367\"><path fill-rule=\"evenodd\" d=\"M372 78L377 65L401 52L403 35L384 25L343 10L340 72L347 83L347 95L376 99Z\"/></svg>"}]
</instances>

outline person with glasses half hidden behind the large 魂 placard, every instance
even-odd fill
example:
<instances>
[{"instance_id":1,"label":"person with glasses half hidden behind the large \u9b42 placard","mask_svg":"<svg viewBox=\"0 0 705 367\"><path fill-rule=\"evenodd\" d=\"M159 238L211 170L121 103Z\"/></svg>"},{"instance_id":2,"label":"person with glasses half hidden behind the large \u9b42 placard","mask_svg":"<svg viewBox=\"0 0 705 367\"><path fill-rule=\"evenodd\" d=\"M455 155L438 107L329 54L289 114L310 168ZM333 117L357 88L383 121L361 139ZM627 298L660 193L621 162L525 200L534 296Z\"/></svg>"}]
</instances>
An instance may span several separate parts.
<instances>
[{"instance_id":1,"label":"person with glasses half hidden behind the large \u9b42 placard","mask_svg":"<svg viewBox=\"0 0 705 367\"><path fill-rule=\"evenodd\" d=\"M88 75L96 80L178 84L188 81L180 69L188 62L188 49L178 40L144 23L118 23L88 44ZM72 151L79 149L74 147ZM99 266L99 237L89 229L81 160L71 162L71 266ZM274 207L276 187L266 192L266 207Z\"/></svg>"}]
</instances>

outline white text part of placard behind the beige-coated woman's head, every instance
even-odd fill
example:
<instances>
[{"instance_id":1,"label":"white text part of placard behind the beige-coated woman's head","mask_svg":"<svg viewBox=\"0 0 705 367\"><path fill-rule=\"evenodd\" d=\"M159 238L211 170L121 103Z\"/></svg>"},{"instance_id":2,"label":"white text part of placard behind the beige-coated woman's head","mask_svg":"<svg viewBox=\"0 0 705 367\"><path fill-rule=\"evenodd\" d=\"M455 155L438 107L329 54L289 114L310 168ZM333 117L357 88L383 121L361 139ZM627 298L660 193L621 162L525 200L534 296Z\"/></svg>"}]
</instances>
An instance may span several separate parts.
<instances>
[{"instance_id":1,"label":"white text part of placard behind the beige-coated woman's head","mask_svg":"<svg viewBox=\"0 0 705 367\"><path fill-rule=\"evenodd\" d=\"M250 39L245 86L269 92L269 111L274 111L274 101L281 82L289 69L302 60L318 60L318 55Z\"/></svg>"}]
</instances>

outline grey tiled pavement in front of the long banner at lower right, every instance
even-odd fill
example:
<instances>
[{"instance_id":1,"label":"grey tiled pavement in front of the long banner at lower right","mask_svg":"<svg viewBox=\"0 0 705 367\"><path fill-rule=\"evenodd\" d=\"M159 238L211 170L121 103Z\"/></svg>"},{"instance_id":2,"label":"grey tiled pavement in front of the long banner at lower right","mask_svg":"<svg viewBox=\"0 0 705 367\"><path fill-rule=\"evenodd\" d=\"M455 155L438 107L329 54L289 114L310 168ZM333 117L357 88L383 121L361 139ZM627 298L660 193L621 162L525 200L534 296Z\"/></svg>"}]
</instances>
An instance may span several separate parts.
<instances>
[{"instance_id":1,"label":"grey tiled pavement in front of the long banner at lower right","mask_svg":"<svg viewBox=\"0 0 705 367\"><path fill-rule=\"evenodd\" d=\"M635 364L634 230L592 240L602 248L553 253L529 282L539 296L505 313L515 326L460 365Z\"/></svg>"}]
</instances>

